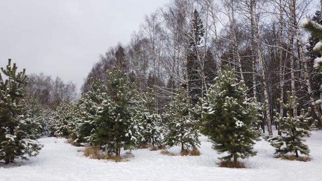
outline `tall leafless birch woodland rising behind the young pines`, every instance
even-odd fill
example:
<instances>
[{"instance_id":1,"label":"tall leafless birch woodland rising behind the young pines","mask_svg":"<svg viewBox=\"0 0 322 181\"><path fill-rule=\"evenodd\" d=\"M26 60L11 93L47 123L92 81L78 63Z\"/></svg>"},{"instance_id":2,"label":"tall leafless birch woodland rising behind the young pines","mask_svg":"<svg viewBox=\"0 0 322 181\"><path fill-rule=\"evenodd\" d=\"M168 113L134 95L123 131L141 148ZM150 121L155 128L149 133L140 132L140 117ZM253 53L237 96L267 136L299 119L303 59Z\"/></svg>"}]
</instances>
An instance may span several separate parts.
<instances>
[{"instance_id":1,"label":"tall leafless birch woodland rising behind the young pines","mask_svg":"<svg viewBox=\"0 0 322 181\"><path fill-rule=\"evenodd\" d=\"M127 45L111 47L93 66L82 86L89 91L91 77L107 81L113 66L131 74L137 88L153 89L159 113L183 84L192 104L200 104L217 71L229 64L250 89L249 97L264 105L263 131L272 135L277 99L286 92L298 97L300 109L312 110L321 126L321 74L313 68L317 38L307 37L300 20L311 1L182 1L175 0L144 17L140 30ZM319 22L320 11L312 20ZM307 43L306 43L307 42ZM265 125L267 126L265 130ZM280 134L280 132L279 132Z\"/></svg>"}]
</instances>

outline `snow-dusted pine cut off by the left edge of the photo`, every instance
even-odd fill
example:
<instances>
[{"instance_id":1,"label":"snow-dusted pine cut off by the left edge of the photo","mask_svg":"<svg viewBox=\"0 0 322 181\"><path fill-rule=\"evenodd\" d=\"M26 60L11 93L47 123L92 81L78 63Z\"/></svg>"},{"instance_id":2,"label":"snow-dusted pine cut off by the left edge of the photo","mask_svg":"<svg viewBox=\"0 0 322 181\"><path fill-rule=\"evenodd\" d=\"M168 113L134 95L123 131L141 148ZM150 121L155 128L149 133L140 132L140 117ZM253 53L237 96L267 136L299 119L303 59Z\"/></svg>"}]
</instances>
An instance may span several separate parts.
<instances>
[{"instance_id":1,"label":"snow-dusted pine cut off by the left edge of the photo","mask_svg":"<svg viewBox=\"0 0 322 181\"><path fill-rule=\"evenodd\" d=\"M25 69L17 73L17 68L9 59L6 69L1 68L8 78L0 73L0 161L5 164L36 156L42 147L36 140L39 124L24 100L28 76Z\"/></svg>"}]
</instances>

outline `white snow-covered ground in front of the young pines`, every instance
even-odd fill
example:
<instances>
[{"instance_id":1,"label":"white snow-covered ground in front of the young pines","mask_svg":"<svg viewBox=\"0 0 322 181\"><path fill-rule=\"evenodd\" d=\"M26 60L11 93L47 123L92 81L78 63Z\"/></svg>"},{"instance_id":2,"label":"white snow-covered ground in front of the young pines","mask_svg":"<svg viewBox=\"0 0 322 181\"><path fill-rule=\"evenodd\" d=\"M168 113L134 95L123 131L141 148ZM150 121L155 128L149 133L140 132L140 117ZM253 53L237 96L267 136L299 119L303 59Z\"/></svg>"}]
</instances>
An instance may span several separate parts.
<instances>
[{"instance_id":1,"label":"white snow-covered ground in front of the young pines","mask_svg":"<svg viewBox=\"0 0 322 181\"><path fill-rule=\"evenodd\" d=\"M257 156L246 160L245 169L220 168L220 157L206 137L201 137L200 156L167 156L160 151L133 150L126 162L89 159L65 143L65 139L44 137L37 157L18 165L0 164L0 180L321 180L322 131L307 138L313 160L288 161L273 158L268 142L257 142ZM170 149L179 153L180 148ZM125 151L123 151L123 154Z\"/></svg>"}]
</instances>

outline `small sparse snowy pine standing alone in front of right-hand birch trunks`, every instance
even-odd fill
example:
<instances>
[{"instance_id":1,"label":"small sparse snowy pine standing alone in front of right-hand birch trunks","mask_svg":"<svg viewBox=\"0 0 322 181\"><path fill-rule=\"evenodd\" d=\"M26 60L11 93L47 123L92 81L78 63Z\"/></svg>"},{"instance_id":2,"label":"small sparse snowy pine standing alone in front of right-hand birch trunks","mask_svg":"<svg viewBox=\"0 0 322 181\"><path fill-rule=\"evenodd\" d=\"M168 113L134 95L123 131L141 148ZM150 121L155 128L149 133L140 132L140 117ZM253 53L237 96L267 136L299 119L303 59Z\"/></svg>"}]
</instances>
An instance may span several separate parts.
<instances>
[{"instance_id":1,"label":"small sparse snowy pine standing alone in front of right-hand birch trunks","mask_svg":"<svg viewBox=\"0 0 322 181\"><path fill-rule=\"evenodd\" d=\"M287 92L286 104L281 100L277 100L281 107L287 111L286 117L280 115L275 111L275 121L279 123L280 130L285 136L277 136L269 138L268 141L273 147L275 147L275 154L287 154L295 153L295 156L298 157L298 151L301 154L308 155L309 149L307 145L303 144L305 141L303 137L309 137L309 129L313 129L316 124L316 121L310 125L310 111L308 108L307 112L303 109L300 112L299 116L293 115L293 109L297 109L298 103L297 98L291 96L290 92Z\"/></svg>"}]
</instances>

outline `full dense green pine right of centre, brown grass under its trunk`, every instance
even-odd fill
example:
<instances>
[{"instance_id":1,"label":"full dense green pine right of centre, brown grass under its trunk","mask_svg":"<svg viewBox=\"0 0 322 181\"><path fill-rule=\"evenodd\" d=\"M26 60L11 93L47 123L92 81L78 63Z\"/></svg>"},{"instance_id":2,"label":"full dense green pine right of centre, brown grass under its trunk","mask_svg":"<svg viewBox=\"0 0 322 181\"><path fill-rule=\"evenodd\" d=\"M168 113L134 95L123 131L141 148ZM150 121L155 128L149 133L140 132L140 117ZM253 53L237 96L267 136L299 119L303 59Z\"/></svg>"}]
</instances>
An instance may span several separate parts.
<instances>
[{"instance_id":1,"label":"full dense green pine right of centre, brown grass under its trunk","mask_svg":"<svg viewBox=\"0 0 322 181\"><path fill-rule=\"evenodd\" d=\"M259 104L254 98L248 98L247 86L236 78L234 70L226 67L214 79L202 100L203 118L201 133L213 142L218 153L227 153L220 159L238 162L238 158L256 155L254 141L259 139L257 111Z\"/></svg>"}]
</instances>

